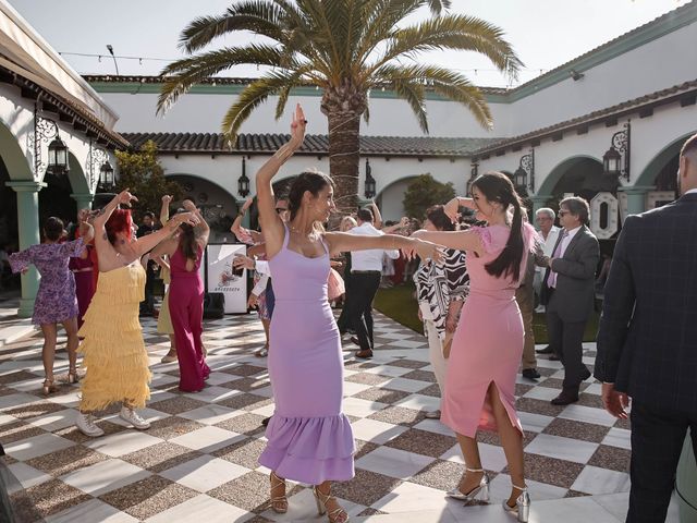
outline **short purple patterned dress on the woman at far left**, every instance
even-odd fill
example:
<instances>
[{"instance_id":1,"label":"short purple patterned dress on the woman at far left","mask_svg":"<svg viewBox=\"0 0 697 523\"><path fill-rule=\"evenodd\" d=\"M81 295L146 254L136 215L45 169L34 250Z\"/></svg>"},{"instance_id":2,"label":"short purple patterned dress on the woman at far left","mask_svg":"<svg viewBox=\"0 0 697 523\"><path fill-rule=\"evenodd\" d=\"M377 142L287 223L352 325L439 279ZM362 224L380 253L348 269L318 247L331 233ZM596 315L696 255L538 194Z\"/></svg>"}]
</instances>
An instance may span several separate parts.
<instances>
[{"instance_id":1,"label":"short purple patterned dress on the woman at far left","mask_svg":"<svg viewBox=\"0 0 697 523\"><path fill-rule=\"evenodd\" d=\"M10 267L20 272L34 264L41 275L39 290L34 301L35 325L60 324L77 317L75 278L68 268L71 257L80 256L82 238L64 243L41 243L10 255Z\"/></svg>"}]
</instances>

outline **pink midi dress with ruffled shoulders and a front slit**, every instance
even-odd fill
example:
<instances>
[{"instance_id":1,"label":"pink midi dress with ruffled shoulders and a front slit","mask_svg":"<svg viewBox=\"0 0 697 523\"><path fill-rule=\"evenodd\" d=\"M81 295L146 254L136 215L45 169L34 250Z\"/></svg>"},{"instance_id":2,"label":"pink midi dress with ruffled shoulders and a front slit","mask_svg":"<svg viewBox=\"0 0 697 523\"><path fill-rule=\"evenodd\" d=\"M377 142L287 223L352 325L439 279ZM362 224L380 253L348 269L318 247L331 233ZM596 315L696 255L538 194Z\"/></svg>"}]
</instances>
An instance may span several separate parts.
<instances>
[{"instance_id":1,"label":"pink midi dress with ruffled shoulders and a front slit","mask_svg":"<svg viewBox=\"0 0 697 523\"><path fill-rule=\"evenodd\" d=\"M530 228L531 229L531 228ZM485 253L477 257L467 253L469 296L453 338L445 376L445 398L441 421L455 433L474 438L477 429L496 430L497 425L487 401L487 389L493 382L509 413L511 424L523 433L515 412L515 377L523 355L525 330L521 309L515 301L517 281L497 278L485 266L499 257L509 240L510 229L503 226L473 227L481 238ZM525 244L530 235L525 226ZM521 273L527 256L523 256Z\"/></svg>"}]
</instances>

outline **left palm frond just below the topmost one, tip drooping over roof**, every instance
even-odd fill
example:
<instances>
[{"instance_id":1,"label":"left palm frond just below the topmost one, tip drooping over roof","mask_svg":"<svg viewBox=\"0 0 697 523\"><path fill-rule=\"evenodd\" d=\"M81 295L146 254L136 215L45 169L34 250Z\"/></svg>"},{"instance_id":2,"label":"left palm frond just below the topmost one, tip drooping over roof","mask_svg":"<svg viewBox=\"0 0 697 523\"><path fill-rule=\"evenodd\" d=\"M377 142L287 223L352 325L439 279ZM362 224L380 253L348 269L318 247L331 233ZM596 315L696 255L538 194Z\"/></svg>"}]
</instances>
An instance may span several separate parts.
<instances>
[{"instance_id":1,"label":"left palm frond just below the topmost one, tip drooping over roof","mask_svg":"<svg viewBox=\"0 0 697 523\"><path fill-rule=\"evenodd\" d=\"M277 48L257 44L246 47L228 47L178 60L162 70L162 75L173 76L167 78L162 85L157 102L157 112L166 112L194 84L233 65L252 63L280 68L282 60L289 69L298 65L297 62L289 63L288 58L283 57Z\"/></svg>"}]
</instances>

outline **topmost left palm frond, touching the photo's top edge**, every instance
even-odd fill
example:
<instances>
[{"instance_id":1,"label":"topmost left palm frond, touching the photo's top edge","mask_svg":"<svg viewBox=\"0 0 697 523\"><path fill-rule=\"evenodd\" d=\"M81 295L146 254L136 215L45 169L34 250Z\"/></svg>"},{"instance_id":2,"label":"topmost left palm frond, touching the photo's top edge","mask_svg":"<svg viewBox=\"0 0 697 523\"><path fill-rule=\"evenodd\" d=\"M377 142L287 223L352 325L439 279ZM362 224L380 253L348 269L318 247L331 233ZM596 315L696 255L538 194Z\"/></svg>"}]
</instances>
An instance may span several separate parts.
<instances>
[{"instance_id":1,"label":"topmost left palm frond, touching the photo's top edge","mask_svg":"<svg viewBox=\"0 0 697 523\"><path fill-rule=\"evenodd\" d=\"M228 8L218 16L200 16L181 34L179 47L185 52L195 52L219 36L235 31L249 31L277 41L283 40L282 7L269 0L247 0Z\"/></svg>"}]
</instances>

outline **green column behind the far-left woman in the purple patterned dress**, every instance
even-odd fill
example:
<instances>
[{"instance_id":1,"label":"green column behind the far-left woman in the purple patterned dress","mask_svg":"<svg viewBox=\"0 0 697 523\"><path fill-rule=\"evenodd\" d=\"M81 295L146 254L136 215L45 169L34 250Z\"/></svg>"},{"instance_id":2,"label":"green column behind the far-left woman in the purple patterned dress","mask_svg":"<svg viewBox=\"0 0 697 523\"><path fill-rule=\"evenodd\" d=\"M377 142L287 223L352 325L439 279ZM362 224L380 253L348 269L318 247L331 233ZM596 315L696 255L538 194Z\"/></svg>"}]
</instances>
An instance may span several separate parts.
<instances>
[{"instance_id":1,"label":"green column behind the far-left woman in the purple patterned dress","mask_svg":"<svg viewBox=\"0 0 697 523\"><path fill-rule=\"evenodd\" d=\"M20 251L41 242L39 226L39 191L46 186L42 182L7 182L17 193L17 228ZM39 275L36 267L22 275L22 299L19 316L30 317L34 313L34 299L39 290Z\"/></svg>"}]
</instances>

